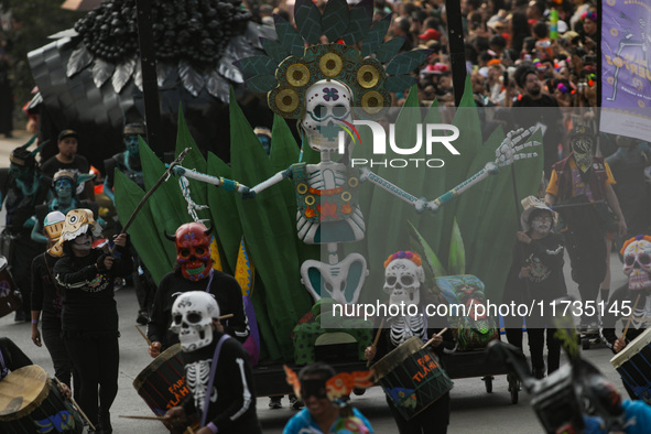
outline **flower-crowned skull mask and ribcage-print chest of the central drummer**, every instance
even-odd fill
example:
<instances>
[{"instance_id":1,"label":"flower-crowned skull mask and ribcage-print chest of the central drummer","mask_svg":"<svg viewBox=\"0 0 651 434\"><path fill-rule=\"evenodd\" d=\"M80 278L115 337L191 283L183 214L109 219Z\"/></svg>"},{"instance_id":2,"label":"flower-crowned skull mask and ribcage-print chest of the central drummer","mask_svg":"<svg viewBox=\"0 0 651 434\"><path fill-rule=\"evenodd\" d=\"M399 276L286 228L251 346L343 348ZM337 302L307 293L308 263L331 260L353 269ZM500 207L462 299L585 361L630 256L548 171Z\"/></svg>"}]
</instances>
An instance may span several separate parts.
<instances>
[{"instance_id":1,"label":"flower-crowned skull mask and ribcage-print chest of the central drummer","mask_svg":"<svg viewBox=\"0 0 651 434\"><path fill-rule=\"evenodd\" d=\"M426 339L421 289L425 283L421 257L411 251L395 252L384 261L384 293L389 295L391 343L399 346L412 336ZM399 313L393 315L392 312Z\"/></svg>"}]
</instances>

